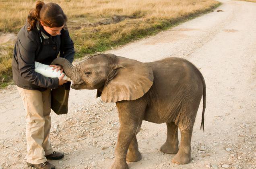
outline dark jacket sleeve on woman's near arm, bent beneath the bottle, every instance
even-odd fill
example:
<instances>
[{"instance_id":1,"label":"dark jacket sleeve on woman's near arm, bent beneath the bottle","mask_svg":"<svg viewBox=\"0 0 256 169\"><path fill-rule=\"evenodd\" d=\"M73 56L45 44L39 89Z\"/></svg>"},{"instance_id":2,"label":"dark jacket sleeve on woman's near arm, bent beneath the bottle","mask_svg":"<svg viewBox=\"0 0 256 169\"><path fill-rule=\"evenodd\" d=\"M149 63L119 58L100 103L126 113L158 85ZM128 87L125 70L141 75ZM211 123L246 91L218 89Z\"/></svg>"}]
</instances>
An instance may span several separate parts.
<instances>
[{"instance_id":1,"label":"dark jacket sleeve on woman's near arm, bent beneath the bottle","mask_svg":"<svg viewBox=\"0 0 256 169\"><path fill-rule=\"evenodd\" d=\"M17 59L21 77L42 88L58 88L58 77L44 77L40 73L35 72L35 52L37 47L38 44L33 34L18 37Z\"/></svg>"}]
</instances>

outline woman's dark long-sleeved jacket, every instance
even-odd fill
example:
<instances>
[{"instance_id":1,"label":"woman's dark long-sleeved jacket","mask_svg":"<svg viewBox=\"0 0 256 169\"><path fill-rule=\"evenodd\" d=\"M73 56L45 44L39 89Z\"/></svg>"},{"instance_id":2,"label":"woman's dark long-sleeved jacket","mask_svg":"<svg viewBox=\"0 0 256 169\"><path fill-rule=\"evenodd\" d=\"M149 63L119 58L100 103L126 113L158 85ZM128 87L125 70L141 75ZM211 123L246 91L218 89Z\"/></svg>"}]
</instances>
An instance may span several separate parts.
<instances>
[{"instance_id":1,"label":"woman's dark long-sleeved jacket","mask_svg":"<svg viewBox=\"0 0 256 169\"><path fill-rule=\"evenodd\" d=\"M38 23L37 27L27 31L27 24L19 31L12 58L14 83L20 88L45 91L58 88L58 77L44 77L35 72L35 61L50 65L57 58L64 57L72 63L74 43L68 30L62 29L61 35L50 36Z\"/></svg>"}]
</instances>

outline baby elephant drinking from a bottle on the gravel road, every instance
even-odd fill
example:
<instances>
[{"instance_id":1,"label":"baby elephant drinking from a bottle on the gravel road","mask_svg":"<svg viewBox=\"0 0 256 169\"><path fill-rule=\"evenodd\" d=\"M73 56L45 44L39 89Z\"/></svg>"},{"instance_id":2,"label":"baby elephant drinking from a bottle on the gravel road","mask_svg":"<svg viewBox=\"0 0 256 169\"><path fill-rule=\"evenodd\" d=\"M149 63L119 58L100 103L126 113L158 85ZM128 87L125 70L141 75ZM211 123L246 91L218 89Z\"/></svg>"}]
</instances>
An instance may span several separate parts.
<instances>
[{"instance_id":1,"label":"baby elephant drinking from a bottle on the gravel road","mask_svg":"<svg viewBox=\"0 0 256 169\"><path fill-rule=\"evenodd\" d=\"M126 161L141 160L136 134L142 120L165 122L167 139L160 151L176 154L173 163L190 163L192 128L201 97L203 129L206 105L204 78L192 63L175 57L142 63L99 54L74 66L64 58L55 59L52 65L56 64L73 80L71 88L97 89L97 97L104 102L116 102L120 130L111 169L128 169Z\"/></svg>"}]
</instances>

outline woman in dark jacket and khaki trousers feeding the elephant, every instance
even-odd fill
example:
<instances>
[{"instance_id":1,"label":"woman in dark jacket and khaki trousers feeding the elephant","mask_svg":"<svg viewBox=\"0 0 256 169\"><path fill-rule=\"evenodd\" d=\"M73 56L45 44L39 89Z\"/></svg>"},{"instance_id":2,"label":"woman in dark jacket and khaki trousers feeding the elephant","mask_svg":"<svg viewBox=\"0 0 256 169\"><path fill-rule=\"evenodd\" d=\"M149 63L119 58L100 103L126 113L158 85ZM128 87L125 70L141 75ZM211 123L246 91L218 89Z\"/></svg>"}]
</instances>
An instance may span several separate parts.
<instances>
[{"instance_id":1,"label":"woman in dark jacket and khaki trousers feeding the elephant","mask_svg":"<svg viewBox=\"0 0 256 169\"><path fill-rule=\"evenodd\" d=\"M67 17L55 3L37 1L27 22L19 31L12 60L13 80L26 109L27 164L36 168L55 168L47 159L62 159L64 153L52 149L51 89L66 83L61 77L48 78L35 72L35 61L50 65L58 56L72 63L74 43L65 29ZM51 65L63 71L58 65Z\"/></svg>"}]
</instances>

